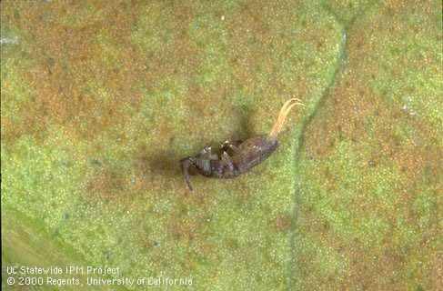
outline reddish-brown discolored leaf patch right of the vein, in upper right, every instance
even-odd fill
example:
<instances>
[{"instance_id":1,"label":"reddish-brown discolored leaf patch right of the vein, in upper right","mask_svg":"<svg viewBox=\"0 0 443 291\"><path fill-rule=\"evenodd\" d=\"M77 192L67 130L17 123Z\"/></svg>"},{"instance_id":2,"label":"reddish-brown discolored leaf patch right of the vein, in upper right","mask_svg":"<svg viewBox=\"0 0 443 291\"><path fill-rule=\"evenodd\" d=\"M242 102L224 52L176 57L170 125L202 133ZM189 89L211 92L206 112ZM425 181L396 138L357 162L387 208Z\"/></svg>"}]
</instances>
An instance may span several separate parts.
<instances>
[{"instance_id":1,"label":"reddish-brown discolored leaf patch right of the vein, in upper right","mask_svg":"<svg viewBox=\"0 0 443 291\"><path fill-rule=\"evenodd\" d=\"M410 4L412 5L412 4ZM364 34L357 34L358 30L362 30L366 26L361 27L358 24L356 27L351 27L347 37L347 71L339 76L337 85L330 95L327 96L325 108L327 111L320 109L317 115L319 118L314 121L312 127L315 130L310 130L307 135L307 149L312 151L314 155L324 156L331 152L337 141L341 139L351 140L358 143L362 140L378 140L379 145L372 145L377 148L377 153L374 155L381 158L371 160L372 165L383 164L383 159L396 158L400 168L408 168L407 175L411 178L417 175L419 169L423 166L420 161L424 160L422 156L423 151L418 149L418 155L412 154L416 149L407 150L408 161L405 161L400 156L405 154L405 148L401 148L398 137L393 134L393 126L400 123L406 123L418 129L419 133L426 133L421 135L419 144L432 144L435 142L435 130L431 128L426 122L420 118L408 115L405 110L395 107L384 95L378 95L372 91L370 84L383 73L384 70L389 70L389 75L393 79L403 80L406 68L414 68L415 70L425 69L432 63L432 57L428 55L417 55L417 57L410 57L404 54L396 59L395 65L381 65L377 57L373 53L377 52L382 47L378 42L374 42L373 38L380 32L386 30L385 24L389 23L389 35L407 35L408 30L405 30L405 19L399 18L397 14L395 19L391 19L389 11L397 11L402 9L407 13L411 9L410 5L404 3L390 2L385 7L380 7L380 21L377 24L371 23L370 29L364 29ZM429 11L430 3L424 5L421 9ZM395 8L394 8L395 7ZM385 15L388 14L388 15ZM363 23L368 25L368 23ZM426 21L425 27L432 22ZM375 27L373 25L376 25ZM421 27L421 25L419 25ZM414 28L418 28L415 27ZM399 38L401 38L400 36ZM414 86L410 86L405 92L415 91ZM325 118L322 118L325 117ZM433 134L434 133L434 134ZM428 136L426 136L428 135ZM318 142L321 140L322 142ZM414 145L411 145L414 146ZM403 153L402 153L403 152ZM383 157L381 157L383 156ZM426 162L425 162L426 163ZM408 164L408 165L405 165Z\"/></svg>"}]
</instances>

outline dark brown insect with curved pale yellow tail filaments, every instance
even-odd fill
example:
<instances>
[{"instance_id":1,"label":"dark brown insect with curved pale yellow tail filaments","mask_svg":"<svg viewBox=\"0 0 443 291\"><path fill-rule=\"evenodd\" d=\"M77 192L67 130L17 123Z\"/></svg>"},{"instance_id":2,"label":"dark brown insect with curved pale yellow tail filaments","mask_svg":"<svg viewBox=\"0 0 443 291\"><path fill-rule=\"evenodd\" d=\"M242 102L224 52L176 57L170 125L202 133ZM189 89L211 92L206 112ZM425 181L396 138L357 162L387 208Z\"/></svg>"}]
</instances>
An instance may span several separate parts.
<instances>
[{"instance_id":1,"label":"dark brown insect with curved pale yellow tail filaments","mask_svg":"<svg viewBox=\"0 0 443 291\"><path fill-rule=\"evenodd\" d=\"M206 146L196 156L181 159L183 176L189 189L193 190L189 180L190 168L195 168L202 176L233 178L267 159L277 149L279 145L277 135L294 105L303 104L296 98L289 99L282 106L277 122L268 135L254 136L245 141L226 141L220 146L219 155L216 155L211 147Z\"/></svg>"}]
</instances>

